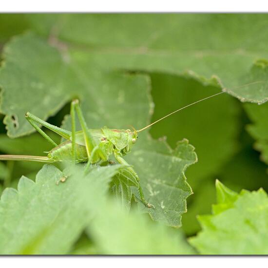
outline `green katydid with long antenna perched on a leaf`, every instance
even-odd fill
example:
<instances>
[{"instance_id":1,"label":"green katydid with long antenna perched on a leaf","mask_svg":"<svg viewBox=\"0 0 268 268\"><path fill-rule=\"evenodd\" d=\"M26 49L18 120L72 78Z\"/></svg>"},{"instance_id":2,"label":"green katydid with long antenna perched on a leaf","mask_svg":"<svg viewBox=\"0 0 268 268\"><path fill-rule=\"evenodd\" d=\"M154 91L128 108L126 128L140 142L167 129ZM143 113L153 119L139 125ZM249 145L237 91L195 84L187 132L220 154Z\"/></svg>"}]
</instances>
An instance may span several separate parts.
<instances>
[{"instance_id":1,"label":"green katydid with long antenna perched on a leaf","mask_svg":"<svg viewBox=\"0 0 268 268\"><path fill-rule=\"evenodd\" d=\"M257 81L253 83L259 83ZM253 84L250 83L250 84ZM247 84L249 85L249 84ZM246 85L244 85L246 86ZM82 111L79 106L79 101L73 100L71 103L71 119L72 119L72 131L67 131L57 126L51 125L35 115L27 112L25 117L28 122L41 134L46 140L53 144L54 148L48 152L47 156L35 156L35 155L0 155L0 160L18 160L18 161L36 161L45 163L56 163L63 161L73 161L74 163L87 162L85 166L85 172L88 171L92 164L101 164L109 161L111 154L115 155L115 159L119 164L128 166L127 170L134 178L134 185L138 188L140 199L142 203L148 208L154 208L152 204L146 201L142 188L140 186L140 179L134 169L124 160L123 156L131 152L131 149L138 138L138 132L141 132L164 118L173 115L191 105L194 105L200 101L209 99L224 93L220 92L212 96L205 97L198 101L195 101L189 105L186 105L169 115L166 115L152 124L140 129L140 130L117 130L103 127L100 129L89 129L84 119ZM76 131L76 115L81 125L82 130ZM59 134L66 141L57 145L45 132L43 132L38 124L50 129L51 131ZM64 179L62 180L64 181Z\"/></svg>"}]
</instances>

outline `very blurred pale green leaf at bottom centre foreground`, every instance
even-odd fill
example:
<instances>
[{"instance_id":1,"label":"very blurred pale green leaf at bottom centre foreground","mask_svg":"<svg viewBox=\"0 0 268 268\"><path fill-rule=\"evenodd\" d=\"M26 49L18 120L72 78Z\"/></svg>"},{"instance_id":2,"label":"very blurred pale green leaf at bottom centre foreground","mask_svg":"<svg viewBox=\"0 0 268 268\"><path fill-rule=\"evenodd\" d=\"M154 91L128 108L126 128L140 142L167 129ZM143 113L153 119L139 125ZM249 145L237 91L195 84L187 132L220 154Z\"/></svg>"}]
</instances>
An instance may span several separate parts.
<instances>
[{"instance_id":1,"label":"very blurred pale green leaf at bottom centre foreground","mask_svg":"<svg viewBox=\"0 0 268 268\"><path fill-rule=\"evenodd\" d=\"M106 217L99 213L87 229L101 254L195 254L180 230L152 222L137 211L127 216L115 202L104 210Z\"/></svg>"}]
</instances>

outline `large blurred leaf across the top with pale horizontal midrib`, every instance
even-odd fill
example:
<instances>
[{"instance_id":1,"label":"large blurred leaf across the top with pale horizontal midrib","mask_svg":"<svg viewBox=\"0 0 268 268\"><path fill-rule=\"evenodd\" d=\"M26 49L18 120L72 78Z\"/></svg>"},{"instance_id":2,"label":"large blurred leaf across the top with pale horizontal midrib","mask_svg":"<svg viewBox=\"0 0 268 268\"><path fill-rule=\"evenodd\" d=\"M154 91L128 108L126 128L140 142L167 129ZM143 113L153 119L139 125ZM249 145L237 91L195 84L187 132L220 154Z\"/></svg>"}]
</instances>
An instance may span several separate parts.
<instances>
[{"instance_id":1,"label":"large blurred leaf across the top with pale horizontal midrib","mask_svg":"<svg viewBox=\"0 0 268 268\"><path fill-rule=\"evenodd\" d=\"M268 100L267 14L30 15L44 36L101 68L165 72L220 84L241 101ZM116 29L116 31L115 31ZM261 81L243 88L238 86ZM236 88L236 89L235 89Z\"/></svg>"}]
</instances>

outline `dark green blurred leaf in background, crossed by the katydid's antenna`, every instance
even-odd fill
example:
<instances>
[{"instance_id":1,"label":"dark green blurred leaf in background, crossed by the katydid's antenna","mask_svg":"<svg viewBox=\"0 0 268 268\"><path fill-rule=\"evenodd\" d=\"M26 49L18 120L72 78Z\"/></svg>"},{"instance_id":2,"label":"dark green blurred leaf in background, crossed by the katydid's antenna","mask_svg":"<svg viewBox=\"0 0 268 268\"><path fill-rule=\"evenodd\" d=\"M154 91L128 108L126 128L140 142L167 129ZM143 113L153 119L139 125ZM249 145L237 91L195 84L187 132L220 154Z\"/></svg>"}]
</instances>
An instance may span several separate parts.
<instances>
[{"instance_id":1,"label":"dark green blurred leaf in background, crossed by the katydid's antenna","mask_svg":"<svg viewBox=\"0 0 268 268\"><path fill-rule=\"evenodd\" d=\"M192 79L163 74L152 75L152 88L155 103L152 121L178 107L219 92L215 87L204 87ZM165 94L161 94L163 89ZM191 140L197 150L198 163L187 174L195 191L195 186L201 180L207 180L211 174L218 172L237 151L235 139L239 132L239 115L240 109L235 99L221 95L159 122L153 126L151 134L155 138L167 136L167 142L172 147L178 139L187 137ZM213 147L207 146L211 142Z\"/></svg>"}]
</instances>

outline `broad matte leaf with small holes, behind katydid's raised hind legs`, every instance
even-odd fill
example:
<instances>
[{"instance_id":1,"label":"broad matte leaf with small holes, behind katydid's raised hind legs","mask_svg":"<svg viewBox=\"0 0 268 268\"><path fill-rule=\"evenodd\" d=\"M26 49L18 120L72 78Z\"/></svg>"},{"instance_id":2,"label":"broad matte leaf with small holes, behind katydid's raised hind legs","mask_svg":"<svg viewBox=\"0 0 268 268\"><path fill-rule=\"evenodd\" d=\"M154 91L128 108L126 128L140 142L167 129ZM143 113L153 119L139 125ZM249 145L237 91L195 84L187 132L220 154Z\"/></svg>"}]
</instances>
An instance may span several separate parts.
<instances>
[{"instance_id":1,"label":"broad matte leaf with small holes, behind katydid's raised hind legs","mask_svg":"<svg viewBox=\"0 0 268 268\"><path fill-rule=\"evenodd\" d=\"M147 96L148 77L100 73L90 64L90 55L79 58L61 53L32 34L14 38L5 46L1 112L6 115L9 136L33 132L24 118L27 111L46 119L74 97L84 103L90 128L96 122L97 127L105 123L117 129L143 126L142 115L150 108L140 99Z\"/></svg>"}]
</instances>

